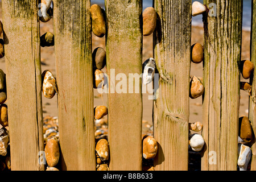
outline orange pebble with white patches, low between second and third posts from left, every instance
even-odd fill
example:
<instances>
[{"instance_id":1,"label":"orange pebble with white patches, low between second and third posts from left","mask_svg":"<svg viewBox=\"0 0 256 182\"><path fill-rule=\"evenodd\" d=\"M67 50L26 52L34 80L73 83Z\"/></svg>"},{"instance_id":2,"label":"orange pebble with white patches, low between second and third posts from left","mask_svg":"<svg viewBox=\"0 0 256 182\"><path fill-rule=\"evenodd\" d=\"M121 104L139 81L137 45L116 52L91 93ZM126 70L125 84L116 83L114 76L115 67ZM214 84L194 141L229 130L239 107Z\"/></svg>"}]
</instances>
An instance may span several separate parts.
<instances>
[{"instance_id":1,"label":"orange pebble with white patches, low between second and third posts from left","mask_svg":"<svg viewBox=\"0 0 256 182\"><path fill-rule=\"evenodd\" d=\"M98 140L96 144L96 152L102 161L109 159L109 142L106 139Z\"/></svg>"}]
</instances>

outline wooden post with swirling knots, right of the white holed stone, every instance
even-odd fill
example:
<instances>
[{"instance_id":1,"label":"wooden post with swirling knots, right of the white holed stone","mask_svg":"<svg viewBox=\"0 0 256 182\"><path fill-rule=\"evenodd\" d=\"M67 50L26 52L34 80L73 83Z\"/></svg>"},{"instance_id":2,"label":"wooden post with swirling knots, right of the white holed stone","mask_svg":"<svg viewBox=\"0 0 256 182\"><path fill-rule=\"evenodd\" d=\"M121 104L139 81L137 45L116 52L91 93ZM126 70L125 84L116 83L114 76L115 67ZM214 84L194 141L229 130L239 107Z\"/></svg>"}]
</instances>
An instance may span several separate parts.
<instances>
[{"instance_id":1,"label":"wooden post with swirling knots, right of the white holed stone","mask_svg":"<svg viewBox=\"0 0 256 182\"><path fill-rule=\"evenodd\" d=\"M154 100L156 170L188 169L191 0L155 0L154 57L159 95Z\"/></svg>"}]
</instances>

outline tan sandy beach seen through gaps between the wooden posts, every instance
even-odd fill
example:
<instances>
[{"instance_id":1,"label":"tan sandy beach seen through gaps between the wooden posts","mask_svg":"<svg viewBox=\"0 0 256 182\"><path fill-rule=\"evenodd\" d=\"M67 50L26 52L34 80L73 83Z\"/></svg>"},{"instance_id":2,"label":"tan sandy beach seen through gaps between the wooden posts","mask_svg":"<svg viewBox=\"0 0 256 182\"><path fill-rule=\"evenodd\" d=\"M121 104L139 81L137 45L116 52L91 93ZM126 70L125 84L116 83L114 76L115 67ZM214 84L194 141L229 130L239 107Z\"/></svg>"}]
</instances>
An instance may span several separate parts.
<instances>
[{"instance_id":1,"label":"tan sandy beach seen through gaps between the wooden posts","mask_svg":"<svg viewBox=\"0 0 256 182\"><path fill-rule=\"evenodd\" d=\"M0 3L0 20L2 21L2 5ZM53 32L53 21L52 19L47 23L40 22L40 35L45 34L46 32ZM191 45L194 43L203 44L204 31L202 26L192 26L192 40ZM1 37L2 38L2 37ZM105 36L104 38L98 38L92 34L92 51L96 47L102 47L105 49ZM143 61L152 57L152 35L143 37ZM242 34L242 57L241 59L250 60L250 32L243 31ZM50 70L53 75L56 76L55 72L55 49L54 47L41 47L41 61L42 61L42 72L46 69ZM0 59L0 68L6 72L5 67L5 57ZM203 63L194 64L191 63L191 77L194 75L198 77L203 77ZM241 76L241 81L244 80ZM150 129L152 126L152 100L147 99L147 94L143 94L143 131ZM94 106L97 105L106 105L107 106L107 96L103 95L103 100L101 99L100 94L97 90L94 89ZM240 98L240 117L243 115L248 115L248 94L241 90ZM8 100L6 102L8 104ZM52 99L42 97L43 104L43 117L52 116L57 117L57 96ZM190 99L190 116L189 122L202 122L202 97L196 98L194 100ZM145 126L147 125L147 126Z\"/></svg>"}]
</instances>

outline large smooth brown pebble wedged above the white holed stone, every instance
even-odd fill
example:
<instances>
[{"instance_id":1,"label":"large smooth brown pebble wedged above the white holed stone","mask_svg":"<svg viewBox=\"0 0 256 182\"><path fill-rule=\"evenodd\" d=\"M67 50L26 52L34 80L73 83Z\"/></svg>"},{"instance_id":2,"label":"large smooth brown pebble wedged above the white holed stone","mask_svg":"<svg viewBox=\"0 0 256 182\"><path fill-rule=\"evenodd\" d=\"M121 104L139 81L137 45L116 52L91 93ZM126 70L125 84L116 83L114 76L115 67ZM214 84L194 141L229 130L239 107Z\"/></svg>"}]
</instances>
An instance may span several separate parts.
<instances>
[{"instance_id":1,"label":"large smooth brown pebble wedged above the white holed stone","mask_svg":"<svg viewBox=\"0 0 256 182\"><path fill-rule=\"evenodd\" d=\"M153 7L147 7L143 11L143 35L148 36L154 32L156 27L156 12Z\"/></svg>"}]
</instances>

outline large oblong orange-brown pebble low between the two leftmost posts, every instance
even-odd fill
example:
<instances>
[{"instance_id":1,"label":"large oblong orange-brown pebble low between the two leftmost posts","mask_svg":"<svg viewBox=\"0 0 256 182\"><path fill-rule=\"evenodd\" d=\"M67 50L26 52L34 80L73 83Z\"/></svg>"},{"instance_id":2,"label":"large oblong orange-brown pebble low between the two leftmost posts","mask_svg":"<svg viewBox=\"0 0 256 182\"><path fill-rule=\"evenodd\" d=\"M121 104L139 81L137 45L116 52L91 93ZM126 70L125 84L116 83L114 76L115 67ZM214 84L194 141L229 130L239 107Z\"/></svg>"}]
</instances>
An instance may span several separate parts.
<instances>
[{"instance_id":1,"label":"large oblong orange-brown pebble low between the two leftmost posts","mask_svg":"<svg viewBox=\"0 0 256 182\"><path fill-rule=\"evenodd\" d=\"M55 137L48 140L44 152L46 153L46 162L48 166L55 167L60 158L59 142Z\"/></svg>"}]
</instances>

